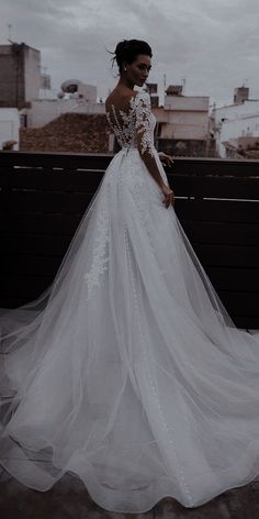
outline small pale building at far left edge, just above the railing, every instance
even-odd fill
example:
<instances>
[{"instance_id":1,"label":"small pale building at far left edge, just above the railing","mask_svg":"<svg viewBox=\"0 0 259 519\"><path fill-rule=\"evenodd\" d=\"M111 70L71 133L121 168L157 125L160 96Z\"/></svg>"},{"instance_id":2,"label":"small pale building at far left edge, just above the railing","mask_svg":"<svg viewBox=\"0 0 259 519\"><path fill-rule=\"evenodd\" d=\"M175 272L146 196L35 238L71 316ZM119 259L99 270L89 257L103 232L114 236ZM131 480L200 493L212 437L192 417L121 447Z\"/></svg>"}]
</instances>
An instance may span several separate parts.
<instances>
[{"instance_id":1,"label":"small pale building at far left edge, just above the railing","mask_svg":"<svg viewBox=\"0 0 259 519\"><path fill-rule=\"evenodd\" d=\"M0 150L7 141L15 141L19 150L20 117L16 108L0 108Z\"/></svg>"}]
</instances>

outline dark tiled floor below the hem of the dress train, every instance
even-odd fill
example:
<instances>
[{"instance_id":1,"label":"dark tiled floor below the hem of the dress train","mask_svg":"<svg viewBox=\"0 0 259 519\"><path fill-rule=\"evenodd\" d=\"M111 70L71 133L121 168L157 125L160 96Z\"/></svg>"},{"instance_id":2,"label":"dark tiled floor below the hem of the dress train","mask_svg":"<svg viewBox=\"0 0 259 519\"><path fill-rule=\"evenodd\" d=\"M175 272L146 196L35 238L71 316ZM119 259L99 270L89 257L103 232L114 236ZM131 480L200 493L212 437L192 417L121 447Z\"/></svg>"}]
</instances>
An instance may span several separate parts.
<instances>
[{"instance_id":1,"label":"dark tiled floor below the hem of the dress train","mask_svg":"<svg viewBox=\"0 0 259 519\"><path fill-rule=\"evenodd\" d=\"M251 330L251 333L258 330ZM100 508L80 479L65 475L50 490L31 490L0 468L1 519L259 519L259 476L199 508L165 498L146 514L123 515Z\"/></svg>"}]
</instances>

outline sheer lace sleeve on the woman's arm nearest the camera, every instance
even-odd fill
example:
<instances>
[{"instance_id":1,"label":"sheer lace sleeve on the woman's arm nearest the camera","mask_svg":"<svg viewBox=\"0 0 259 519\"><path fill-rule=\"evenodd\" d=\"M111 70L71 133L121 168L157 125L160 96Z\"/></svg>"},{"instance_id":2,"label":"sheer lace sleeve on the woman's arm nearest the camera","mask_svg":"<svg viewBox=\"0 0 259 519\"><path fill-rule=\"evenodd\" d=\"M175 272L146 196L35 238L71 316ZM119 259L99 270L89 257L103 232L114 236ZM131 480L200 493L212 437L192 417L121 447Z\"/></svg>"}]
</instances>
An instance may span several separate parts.
<instances>
[{"instance_id":1,"label":"sheer lace sleeve on the woman's arm nearest the camera","mask_svg":"<svg viewBox=\"0 0 259 519\"><path fill-rule=\"evenodd\" d=\"M136 139L137 147L142 159L144 161L148 173L161 186L164 184L160 175L156 157L155 145L153 141L153 131L150 128L150 97L146 92L139 96L138 104L136 107Z\"/></svg>"}]
</instances>

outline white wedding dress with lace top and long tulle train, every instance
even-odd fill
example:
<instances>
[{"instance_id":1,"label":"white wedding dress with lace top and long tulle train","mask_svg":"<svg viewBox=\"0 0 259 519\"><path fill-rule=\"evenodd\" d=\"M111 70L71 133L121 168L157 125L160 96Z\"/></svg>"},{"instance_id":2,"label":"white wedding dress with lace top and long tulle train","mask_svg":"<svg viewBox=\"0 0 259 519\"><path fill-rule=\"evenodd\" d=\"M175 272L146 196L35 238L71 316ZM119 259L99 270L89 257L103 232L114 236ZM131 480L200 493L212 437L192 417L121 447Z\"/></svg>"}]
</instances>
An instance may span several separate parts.
<instances>
[{"instance_id":1,"label":"white wedding dress with lace top and long tulle train","mask_svg":"<svg viewBox=\"0 0 259 519\"><path fill-rule=\"evenodd\" d=\"M117 512L195 507L259 474L259 335L162 205L140 153L167 183L149 102L108 113L122 150L55 281L0 319L0 463L37 490L76 474Z\"/></svg>"}]
</instances>

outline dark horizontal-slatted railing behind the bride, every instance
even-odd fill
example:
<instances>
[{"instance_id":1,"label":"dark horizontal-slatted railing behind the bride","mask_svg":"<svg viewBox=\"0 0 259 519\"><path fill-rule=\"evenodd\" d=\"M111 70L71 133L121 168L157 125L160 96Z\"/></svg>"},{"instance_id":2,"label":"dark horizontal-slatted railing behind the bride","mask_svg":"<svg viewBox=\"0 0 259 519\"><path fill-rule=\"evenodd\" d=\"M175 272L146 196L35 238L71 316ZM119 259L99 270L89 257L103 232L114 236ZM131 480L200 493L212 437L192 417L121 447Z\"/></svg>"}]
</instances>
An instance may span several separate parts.
<instances>
[{"instance_id":1,"label":"dark horizontal-slatted railing behind the bride","mask_svg":"<svg viewBox=\"0 0 259 519\"><path fill-rule=\"evenodd\" d=\"M53 280L110 155L0 154L0 306ZM259 329L259 162L177 158L177 216L236 325ZM173 268L173 265L172 265Z\"/></svg>"}]
</instances>

